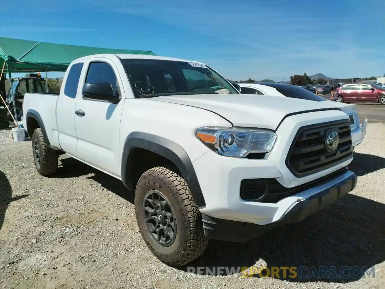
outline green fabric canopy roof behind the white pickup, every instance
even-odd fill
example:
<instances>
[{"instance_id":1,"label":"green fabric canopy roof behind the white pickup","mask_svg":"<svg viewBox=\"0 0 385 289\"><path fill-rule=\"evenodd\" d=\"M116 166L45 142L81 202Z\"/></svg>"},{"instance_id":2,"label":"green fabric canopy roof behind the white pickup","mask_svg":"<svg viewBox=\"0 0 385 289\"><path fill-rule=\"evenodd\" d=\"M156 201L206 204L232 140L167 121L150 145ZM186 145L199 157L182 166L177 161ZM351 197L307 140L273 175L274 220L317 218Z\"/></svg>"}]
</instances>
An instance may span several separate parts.
<instances>
[{"instance_id":1,"label":"green fabric canopy roof behind the white pickup","mask_svg":"<svg viewBox=\"0 0 385 289\"><path fill-rule=\"evenodd\" d=\"M91 54L155 55L151 50L109 49L0 37L0 59L7 61L10 72L66 71L73 60Z\"/></svg>"}]
</instances>

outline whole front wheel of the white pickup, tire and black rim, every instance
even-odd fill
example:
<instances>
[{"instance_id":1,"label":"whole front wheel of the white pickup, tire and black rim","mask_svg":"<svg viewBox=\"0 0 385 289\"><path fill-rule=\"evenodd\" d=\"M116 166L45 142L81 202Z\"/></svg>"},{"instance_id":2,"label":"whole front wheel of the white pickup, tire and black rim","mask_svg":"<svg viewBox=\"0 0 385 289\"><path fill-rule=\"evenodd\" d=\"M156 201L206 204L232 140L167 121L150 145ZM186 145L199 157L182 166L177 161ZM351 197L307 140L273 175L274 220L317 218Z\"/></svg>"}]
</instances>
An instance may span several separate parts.
<instances>
[{"instance_id":1,"label":"whole front wheel of the white pickup, tire and black rim","mask_svg":"<svg viewBox=\"0 0 385 289\"><path fill-rule=\"evenodd\" d=\"M135 214L147 247L167 265L186 265L207 247L198 206L184 178L171 168L158 166L141 176Z\"/></svg>"}]
</instances>

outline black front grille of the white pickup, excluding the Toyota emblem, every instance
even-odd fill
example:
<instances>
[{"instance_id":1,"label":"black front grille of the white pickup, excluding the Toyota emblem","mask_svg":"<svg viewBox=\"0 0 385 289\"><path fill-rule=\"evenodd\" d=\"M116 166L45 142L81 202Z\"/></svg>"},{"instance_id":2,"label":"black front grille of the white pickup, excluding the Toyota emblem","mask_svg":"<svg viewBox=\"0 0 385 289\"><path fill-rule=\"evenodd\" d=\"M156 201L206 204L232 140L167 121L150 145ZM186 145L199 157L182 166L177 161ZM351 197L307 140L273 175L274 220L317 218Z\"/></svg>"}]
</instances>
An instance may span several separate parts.
<instances>
[{"instance_id":1,"label":"black front grille of the white pickup, excluding the Toyota emblem","mask_svg":"<svg viewBox=\"0 0 385 289\"><path fill-rule=\"evenodd\" d=\"M335 150L328 150L326 136L332 131L338 133L339 142ZM291 144L286 166L301 178L346 161L352 155L350 122L333 121L300 128Z\"/></svg>"}]
</instances>

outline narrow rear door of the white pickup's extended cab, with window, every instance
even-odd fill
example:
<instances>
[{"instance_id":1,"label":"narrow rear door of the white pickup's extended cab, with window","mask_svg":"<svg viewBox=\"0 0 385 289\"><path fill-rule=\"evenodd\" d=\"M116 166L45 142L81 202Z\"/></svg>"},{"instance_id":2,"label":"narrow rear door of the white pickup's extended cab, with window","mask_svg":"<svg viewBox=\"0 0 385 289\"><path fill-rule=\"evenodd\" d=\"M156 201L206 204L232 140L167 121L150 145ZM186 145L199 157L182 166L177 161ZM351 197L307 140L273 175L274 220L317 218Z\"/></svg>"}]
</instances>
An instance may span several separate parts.
<instances>
[{"instance_id":1,"label":"narrow rear door of the white pickup's extended cab, with window","mask_svg":"<svg viewBox=\"0 0 385 289\"><path fill-rule=\"evenodd\" d=\"M65 76L66 79L63 79L64 87L61 89L56 105L59 144L62 150L70 155L76 155L77 136L74 111L83 67L83 62L74 63L69 67L69 72Z\"/></svg>"}]
</instances>

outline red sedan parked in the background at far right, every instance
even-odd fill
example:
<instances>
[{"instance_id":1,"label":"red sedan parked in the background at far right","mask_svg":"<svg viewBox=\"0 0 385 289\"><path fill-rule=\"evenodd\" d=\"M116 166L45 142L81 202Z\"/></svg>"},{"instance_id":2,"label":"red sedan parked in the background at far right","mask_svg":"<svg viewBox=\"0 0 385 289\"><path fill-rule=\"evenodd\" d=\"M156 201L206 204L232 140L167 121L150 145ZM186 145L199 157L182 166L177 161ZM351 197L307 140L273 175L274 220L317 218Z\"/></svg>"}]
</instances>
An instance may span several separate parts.
<instances>
[{"instance_id":1,"label":"red sedan parked in the background at far right","mask_svg":"<svg viewBox=\"0 0 385 289\"><path fill-rule=\"evenodd\" d=\"M385 87L372 83L345 84L337 88L337 102L379 102L385 105Z\"/></svg>"}]
</instances>

